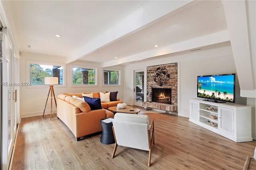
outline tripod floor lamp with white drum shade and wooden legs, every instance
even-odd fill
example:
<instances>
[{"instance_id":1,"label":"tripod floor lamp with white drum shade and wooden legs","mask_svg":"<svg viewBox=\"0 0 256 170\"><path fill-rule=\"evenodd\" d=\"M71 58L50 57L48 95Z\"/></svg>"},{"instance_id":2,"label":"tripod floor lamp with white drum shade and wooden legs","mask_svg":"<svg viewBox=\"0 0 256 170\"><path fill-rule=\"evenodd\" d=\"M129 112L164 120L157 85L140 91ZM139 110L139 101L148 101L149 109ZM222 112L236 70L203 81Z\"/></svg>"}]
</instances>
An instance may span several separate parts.
<instances>
[{"instance_id":1,"label":"tripod floor lamp with white drum shade and wooden legs","mask_svg":"<svg viewBox=\"0 0 256 170\"><path fill-rule=\"evenodd\" d=\"M57 103L56 103L56 99L55 99L53 85L56 85L58 83L59 83L59 78L58 77L44 77L44 84L50 86L49 92L48 92L48 95L47 95L47 99L46 99L46 103L45 103L45 106L44 106L44 112L45 112L45 109L46 109L46 105L47 105L47 101L48 101L48 98L49 98L49 94L51 92L51 116L50 116L51 119L50 120L52 120L52 94L54 96L54 101L55 101L55 105L56 105L56 108L57 108ZM42 119L44 119L44 113L43 113Z\"/></svg>"}]
</instances>

